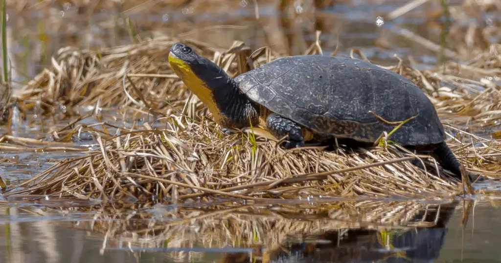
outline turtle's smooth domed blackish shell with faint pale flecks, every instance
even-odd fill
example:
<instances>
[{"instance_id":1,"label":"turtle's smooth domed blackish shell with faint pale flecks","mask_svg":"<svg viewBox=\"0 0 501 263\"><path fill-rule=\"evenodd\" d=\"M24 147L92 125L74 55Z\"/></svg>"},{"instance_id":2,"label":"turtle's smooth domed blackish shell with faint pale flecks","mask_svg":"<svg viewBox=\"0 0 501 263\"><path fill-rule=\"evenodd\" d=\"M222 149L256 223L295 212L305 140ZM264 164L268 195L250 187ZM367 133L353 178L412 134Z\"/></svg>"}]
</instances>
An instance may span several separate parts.
<instances>
[{"instance_id":1,"label":"turtle's smooth domed blackish shell with faint pale flecks","mask_svg":"<svg viewBox=\"0 0 501 263\"><path fill-rule=\"evenodd\" d=\"M250 100L314 133L374 142L408 121L389 140L426 145L445 139L435 107L411 81L359 59L285 57L235 78Z\"/></svg>"}]
</instances>

